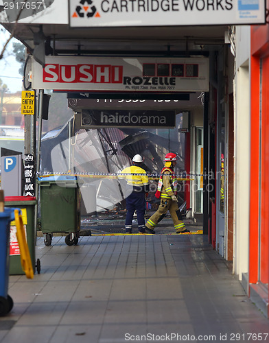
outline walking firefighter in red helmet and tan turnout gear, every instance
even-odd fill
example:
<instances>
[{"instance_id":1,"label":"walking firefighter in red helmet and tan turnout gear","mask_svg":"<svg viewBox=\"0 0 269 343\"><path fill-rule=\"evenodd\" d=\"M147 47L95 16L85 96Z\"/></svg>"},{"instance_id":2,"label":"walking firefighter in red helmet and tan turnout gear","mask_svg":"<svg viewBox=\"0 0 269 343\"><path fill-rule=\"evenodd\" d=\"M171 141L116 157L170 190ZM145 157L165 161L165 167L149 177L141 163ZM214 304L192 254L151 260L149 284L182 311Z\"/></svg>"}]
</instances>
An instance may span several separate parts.
<instances>
[{"instance_id":1,"label":"walking firefighter in red helmet and tan turnout gear","mask_svg":"<svg viewBox=\"0 0 269 343\"><path fill-rule=\"evenodd\" d=\"M161 204L157 211L150 217L145 224L145 230L148 233L155 233L155 226L161 222L165 214L169 210L176 233L189 233L183 223L180 209L176 198L177 181L174 174L174 166L176 165L176 154L169 152L165 155L165 166L161 171L161 176L158 182L158 189L155 193L156 198L161 198Z\"/></svg>"}]
</instances>

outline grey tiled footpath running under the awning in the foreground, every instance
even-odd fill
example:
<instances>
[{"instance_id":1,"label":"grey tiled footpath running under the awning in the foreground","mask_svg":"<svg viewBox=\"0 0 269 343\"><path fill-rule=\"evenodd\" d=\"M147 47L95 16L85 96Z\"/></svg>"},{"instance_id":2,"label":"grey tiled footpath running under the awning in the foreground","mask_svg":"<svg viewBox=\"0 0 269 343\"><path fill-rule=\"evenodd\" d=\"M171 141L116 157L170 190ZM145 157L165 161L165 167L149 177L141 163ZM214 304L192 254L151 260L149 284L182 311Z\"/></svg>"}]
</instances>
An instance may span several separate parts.
<instances>
[{"instance_id":1,"label":"grey tiled footpath running under the awning in the foreground","mask_svg":"<svg viewBox=\"0 0 269 343\"><path fill-rule=\"evenodd\" d=\"M204 235L38 238L41 272L10 276L1 343L269 342L250 302Z\"/></svg>"}]
</instances>

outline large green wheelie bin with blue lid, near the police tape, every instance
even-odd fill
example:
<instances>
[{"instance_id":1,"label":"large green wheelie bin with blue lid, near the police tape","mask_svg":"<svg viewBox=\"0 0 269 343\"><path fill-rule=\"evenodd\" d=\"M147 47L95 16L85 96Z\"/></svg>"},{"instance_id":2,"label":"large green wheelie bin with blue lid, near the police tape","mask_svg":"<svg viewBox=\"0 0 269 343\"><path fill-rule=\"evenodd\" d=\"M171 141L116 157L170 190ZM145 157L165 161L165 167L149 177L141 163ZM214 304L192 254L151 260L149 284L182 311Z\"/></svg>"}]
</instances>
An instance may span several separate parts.
<instances>
[{"instance_id":1,"label":"large green wheelie bin with blue lid, near the police tape","mask_svg":"<svg viewBox=\"0 0 269 343\"><path fill-rule=\"evenodd\" d=\"M80 188L75 176L38 178L40 186L40 219L45 246L53 233L67 233L68 246L78 244L80 237Z\"/></svg>"}]
</instances>

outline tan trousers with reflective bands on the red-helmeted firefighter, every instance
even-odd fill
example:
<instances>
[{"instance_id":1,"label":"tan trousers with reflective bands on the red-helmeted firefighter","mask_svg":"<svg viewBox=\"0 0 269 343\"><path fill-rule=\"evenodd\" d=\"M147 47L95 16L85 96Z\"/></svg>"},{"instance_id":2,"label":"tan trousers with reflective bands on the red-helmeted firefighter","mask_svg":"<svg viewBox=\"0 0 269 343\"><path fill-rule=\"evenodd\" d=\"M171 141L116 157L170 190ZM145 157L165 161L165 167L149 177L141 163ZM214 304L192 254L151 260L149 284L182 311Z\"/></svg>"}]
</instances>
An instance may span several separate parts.
<instances>
[{"instance_id":1,"label":"tan trousers with reflective bands on the red-helmeted firefighter","mask_svg":"<svg viewBox=\"0 0 269 343\"><path fill-rule=\"evenodd\" d=\"M185 230L185 224L183 223L180 209L178 209L178 203L176 201L173 201L172 199L161 199L161 204L159 205L159 208L150 217L145 226L147 226L147 228L151 228L152 230L154 230L154 227L159 222L161 222L161 220L163 219L163 217L165 217L168 210L171 214L176 232L180 233L183 230Z\"/></svg>"}]
</instances>

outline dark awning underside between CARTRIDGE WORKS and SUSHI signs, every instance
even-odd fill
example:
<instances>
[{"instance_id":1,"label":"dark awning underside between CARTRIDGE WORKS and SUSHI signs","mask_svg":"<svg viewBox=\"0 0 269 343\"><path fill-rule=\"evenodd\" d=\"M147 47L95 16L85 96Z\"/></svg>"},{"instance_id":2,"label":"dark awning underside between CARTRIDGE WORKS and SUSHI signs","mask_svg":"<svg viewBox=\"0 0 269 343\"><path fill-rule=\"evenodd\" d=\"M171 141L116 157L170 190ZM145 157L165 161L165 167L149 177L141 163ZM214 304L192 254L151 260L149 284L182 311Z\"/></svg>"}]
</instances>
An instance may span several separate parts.
<instances>
[{"instance_id":1,"label":"dark awning underside between CARTRIDGE WORKS and SUSHI signs","mask_svg":"<svg viewBox=\"0 0 269 343\"><path fill-rule=\"evenodd\" d=\"M28 53L37 41L45 40L47 54L108 55L130 54L189 56L208 54L224 45L226 25L165 27L89 27L72 29L69 25L4 23L21 40Z\"/></svg>"}]
</instances>

